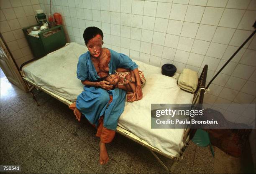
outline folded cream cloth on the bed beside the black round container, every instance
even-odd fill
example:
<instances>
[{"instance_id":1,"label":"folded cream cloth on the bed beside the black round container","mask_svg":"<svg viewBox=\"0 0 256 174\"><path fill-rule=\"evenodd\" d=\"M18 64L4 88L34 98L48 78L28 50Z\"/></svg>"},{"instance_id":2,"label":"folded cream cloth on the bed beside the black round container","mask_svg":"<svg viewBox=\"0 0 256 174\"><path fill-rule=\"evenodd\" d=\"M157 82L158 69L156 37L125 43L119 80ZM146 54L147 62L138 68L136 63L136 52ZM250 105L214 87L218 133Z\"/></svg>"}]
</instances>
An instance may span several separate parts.
<instances>
[{"instance_id":1,"label":"folded cream cloth on the bed beside the black round container","mask_svg":"<svg viewBox=\"0 0 256 174\"><path fill-rule=\"evenodd\" d=\"M178 86L188 92L195 92L198 84L197 72L185 68L179 75Z\"/></svg>"}]
</instances>

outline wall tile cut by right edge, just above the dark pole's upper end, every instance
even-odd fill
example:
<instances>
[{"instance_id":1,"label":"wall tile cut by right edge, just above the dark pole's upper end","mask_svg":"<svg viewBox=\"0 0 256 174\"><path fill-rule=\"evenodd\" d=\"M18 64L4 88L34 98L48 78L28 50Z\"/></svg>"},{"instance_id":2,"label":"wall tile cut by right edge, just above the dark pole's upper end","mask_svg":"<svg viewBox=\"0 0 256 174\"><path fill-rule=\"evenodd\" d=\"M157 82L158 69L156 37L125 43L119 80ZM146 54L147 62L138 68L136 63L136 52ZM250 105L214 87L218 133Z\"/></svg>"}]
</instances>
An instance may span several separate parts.
<instances>
[{"instance_id":1,"label":"wall tile cut by right edge, just above the dark pole's upper end","mask_svg":"<svg viewBox=\"0 0 256 174\"><path fill-rule=\"evenodd\" d=\"M256 20L256 11L247 10L243 15L241 22L238 25L238 29L253 31L253 24Z\"/></svg>"}]
</instances>

